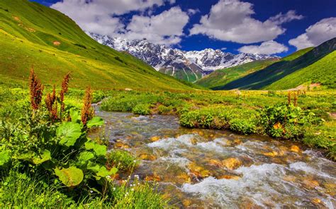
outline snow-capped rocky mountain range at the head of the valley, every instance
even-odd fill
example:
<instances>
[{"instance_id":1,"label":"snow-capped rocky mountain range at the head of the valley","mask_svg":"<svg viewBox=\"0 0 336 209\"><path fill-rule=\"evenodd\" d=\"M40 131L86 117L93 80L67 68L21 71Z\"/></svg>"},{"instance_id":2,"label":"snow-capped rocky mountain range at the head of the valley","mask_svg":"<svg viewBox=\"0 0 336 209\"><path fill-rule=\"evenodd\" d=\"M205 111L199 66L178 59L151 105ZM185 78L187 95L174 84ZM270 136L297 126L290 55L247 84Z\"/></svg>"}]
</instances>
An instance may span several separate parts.
<instances>
[{"instance_id":1,"label":"snow-capped rocky mountain range at the head of the valley","mask_svg":"<svg viewBox=\"0 0 336 209\"><path fill-rule=\"evenodd\" d=\"M126 51L153 66L157 71L179 79L195 81L212 71L245 64L250 61L269 59L261 54L231 54L217 49L182 51L147 40L125 40L88 32L94 40L118 51Z\"/></svg>"}]
</instances>

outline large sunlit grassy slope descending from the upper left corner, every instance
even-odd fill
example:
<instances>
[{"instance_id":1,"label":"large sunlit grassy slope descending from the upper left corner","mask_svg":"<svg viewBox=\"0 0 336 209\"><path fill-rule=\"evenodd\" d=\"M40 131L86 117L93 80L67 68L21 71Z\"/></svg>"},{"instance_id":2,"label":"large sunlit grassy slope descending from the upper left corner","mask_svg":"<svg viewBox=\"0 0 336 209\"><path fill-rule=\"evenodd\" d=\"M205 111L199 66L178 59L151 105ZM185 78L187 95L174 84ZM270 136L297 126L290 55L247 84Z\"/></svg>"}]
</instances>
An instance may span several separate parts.
<instances>
[{"instance_id":1,"label":"large sunlit grassy slope descending from the upper left corner","mask_svg":"<svg viewBox=\"0 0 336 209\"><path fill-rule=\"evenodd\" d=\"M64 14L26 0L0 1L0 57L1 80L27 80L33 66L49 84L71 71L78 88L191 89L95 42Z\"/></svg>"}]
</instances>

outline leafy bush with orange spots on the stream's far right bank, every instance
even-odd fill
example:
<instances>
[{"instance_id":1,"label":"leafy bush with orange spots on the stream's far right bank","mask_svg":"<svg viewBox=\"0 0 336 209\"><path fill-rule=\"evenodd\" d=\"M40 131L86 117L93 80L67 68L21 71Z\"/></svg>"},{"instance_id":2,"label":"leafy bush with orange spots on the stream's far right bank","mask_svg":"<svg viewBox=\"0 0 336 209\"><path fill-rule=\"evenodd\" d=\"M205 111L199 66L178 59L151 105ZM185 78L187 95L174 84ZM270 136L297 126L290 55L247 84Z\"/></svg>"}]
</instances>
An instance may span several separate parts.
<instances>
[{"instance_id":1,"label":"leafy bush with orange spots on the stream's far right bank","mask_svg":"<svg viewBox=\"0 0 336 209\"><path fill-rule=\"evenodd\" d=\"M274 107L264 107L259 122L269 136L299 139L303 138L306 126L318 124L320 119L312 112L303 111L293 104L278 104Z\"/></svg>"}]
</instances>

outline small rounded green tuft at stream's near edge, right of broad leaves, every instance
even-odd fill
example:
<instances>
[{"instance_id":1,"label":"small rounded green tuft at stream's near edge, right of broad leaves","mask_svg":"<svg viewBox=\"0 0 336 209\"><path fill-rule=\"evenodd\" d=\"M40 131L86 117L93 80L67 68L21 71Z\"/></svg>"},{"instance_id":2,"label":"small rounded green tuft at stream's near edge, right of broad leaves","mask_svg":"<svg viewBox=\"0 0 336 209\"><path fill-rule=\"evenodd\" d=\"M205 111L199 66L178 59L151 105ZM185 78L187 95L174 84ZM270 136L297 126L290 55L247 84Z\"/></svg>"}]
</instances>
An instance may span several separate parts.
<instances>
[{"instance_id":1,"label":"small rounded green tuft at stream's near edge, right of broad leaves","mask_svg":"<svg viewBox=\"0 0 336 209\"><path fill-rule=\"evenodd\" d=\"M107 155L107 164L123 171L131 171L138 165L138 160L125 150L111 150Z\"/></svg>"}]
</instances>

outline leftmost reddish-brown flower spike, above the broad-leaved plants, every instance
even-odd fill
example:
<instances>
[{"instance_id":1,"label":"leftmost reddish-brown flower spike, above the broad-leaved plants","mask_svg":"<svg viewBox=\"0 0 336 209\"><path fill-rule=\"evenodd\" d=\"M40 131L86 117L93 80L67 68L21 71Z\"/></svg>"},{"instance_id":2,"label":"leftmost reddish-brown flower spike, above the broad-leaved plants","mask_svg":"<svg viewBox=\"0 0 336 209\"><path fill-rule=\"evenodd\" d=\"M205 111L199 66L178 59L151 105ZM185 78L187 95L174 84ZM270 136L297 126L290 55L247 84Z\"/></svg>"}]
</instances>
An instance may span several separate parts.
<instances>
[{"instance_id":1,"label":"leftmost reddish-brown flower spike, above the broad-leaved plants","mask_svg":"<svg viewBox=\"0 0 336 209\"><path fill-rule=\"evenodd\" d=\"M38 76L35 75L33 68L30 69L29 76L29 90L30 90L30 105L32 109L36 110L40 107L43 94L43 85L38 80Z\"/></svg>"}]
</instances>

